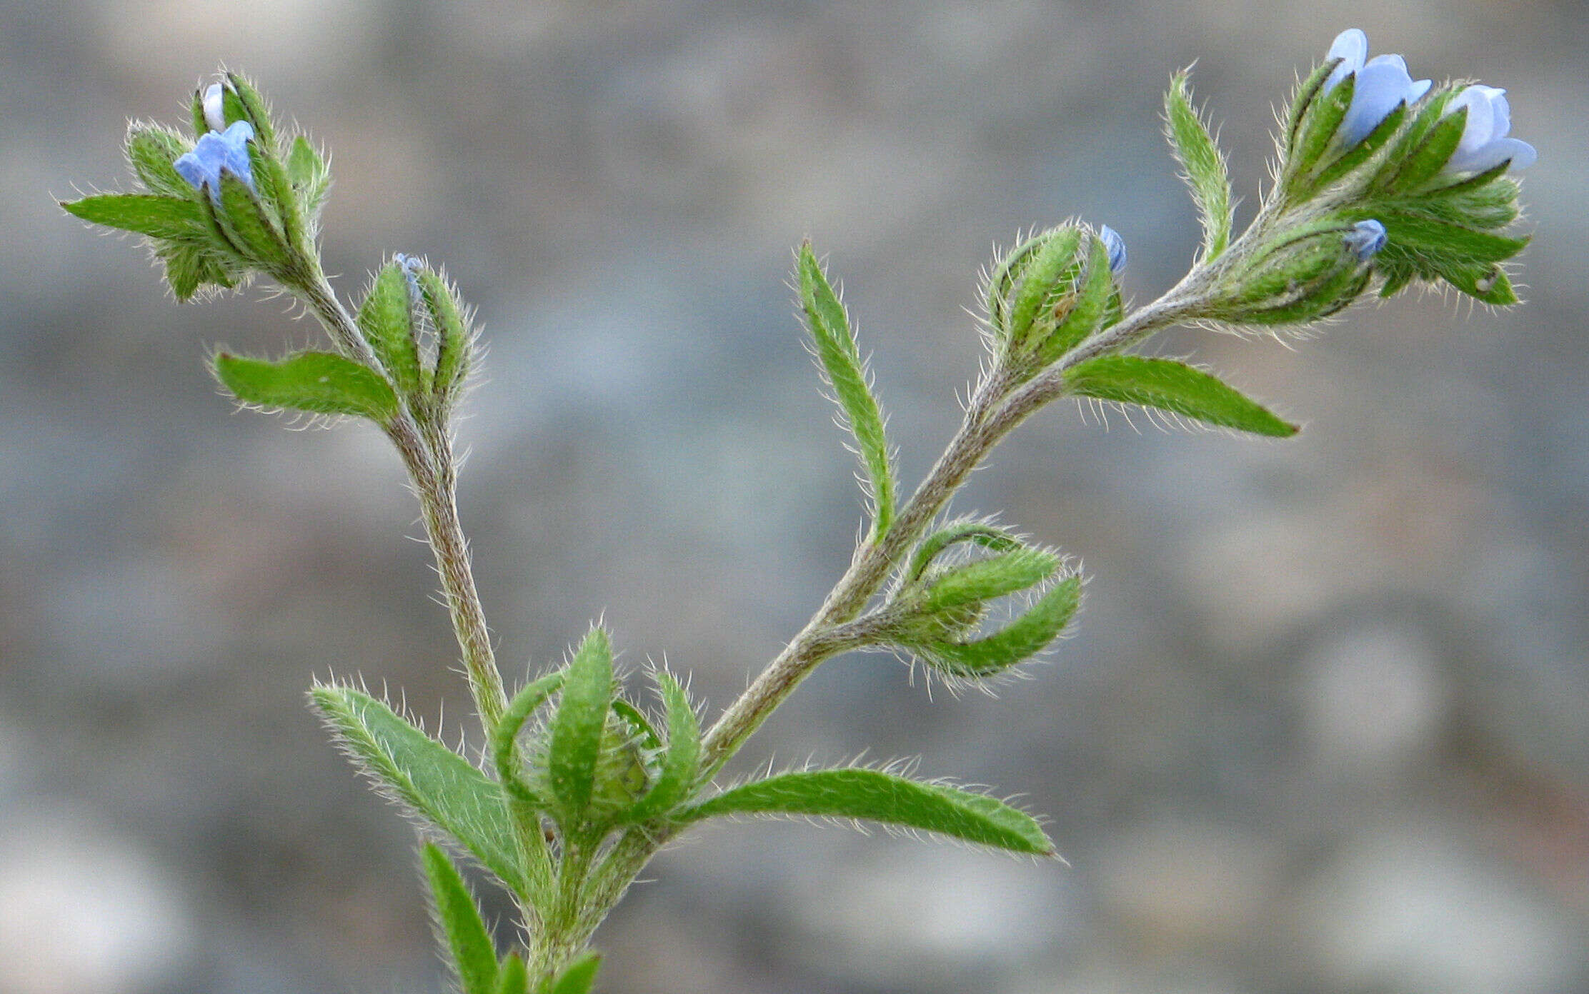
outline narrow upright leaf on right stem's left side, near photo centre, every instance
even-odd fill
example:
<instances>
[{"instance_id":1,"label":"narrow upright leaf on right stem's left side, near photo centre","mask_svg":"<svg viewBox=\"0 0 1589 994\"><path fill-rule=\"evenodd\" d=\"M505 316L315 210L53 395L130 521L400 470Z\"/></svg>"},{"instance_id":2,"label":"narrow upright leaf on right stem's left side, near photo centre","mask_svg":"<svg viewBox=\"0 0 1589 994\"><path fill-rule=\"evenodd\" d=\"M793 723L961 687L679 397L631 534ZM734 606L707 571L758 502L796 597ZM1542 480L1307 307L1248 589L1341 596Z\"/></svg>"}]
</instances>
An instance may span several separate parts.
<instances>
[{"instance_id":1,"label":"narrow upright leaf on right stem's left side, near photo centre","mask_svg":"<svg viewBox=\"0 0 1589 994\"><path fill-rule=\"evenodd\" d=\"M882 537L893 524L895 514L895 478L888 459L888 440L883 435L883 416L866 381L866 365L855 348L850 318L844 313L844 305L833 292L809 241L799 249L799 294L817 359L828 375L828 383L833 384L844 419L855 435L861 467L866 470L872 499L872 535Z\"/></svg>"}]
</instances>

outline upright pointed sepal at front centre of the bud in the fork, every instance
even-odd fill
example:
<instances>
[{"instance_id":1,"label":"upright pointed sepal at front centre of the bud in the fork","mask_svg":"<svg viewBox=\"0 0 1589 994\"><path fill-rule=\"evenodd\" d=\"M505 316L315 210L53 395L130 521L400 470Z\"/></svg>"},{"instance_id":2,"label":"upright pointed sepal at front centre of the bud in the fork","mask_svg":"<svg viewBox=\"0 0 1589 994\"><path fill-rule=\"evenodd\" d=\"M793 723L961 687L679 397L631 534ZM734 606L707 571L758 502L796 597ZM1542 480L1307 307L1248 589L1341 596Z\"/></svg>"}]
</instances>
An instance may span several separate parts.
<instances>
[{"instance_id":1,"label":"upright pointed sepal at front centre of the bud in the fork","mask_svg":"<svg viewBox=\"0 0 1589 994\"><path fill-rule=\"evenodd\" d=\"M563 680L547 757L559 815L572 823L564 824L567 830L577 827L591 803L612 695L612 645L605 630L591 629Z\"/></svg>"}]
</instances>

